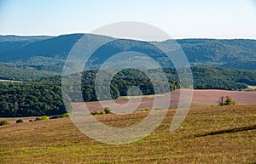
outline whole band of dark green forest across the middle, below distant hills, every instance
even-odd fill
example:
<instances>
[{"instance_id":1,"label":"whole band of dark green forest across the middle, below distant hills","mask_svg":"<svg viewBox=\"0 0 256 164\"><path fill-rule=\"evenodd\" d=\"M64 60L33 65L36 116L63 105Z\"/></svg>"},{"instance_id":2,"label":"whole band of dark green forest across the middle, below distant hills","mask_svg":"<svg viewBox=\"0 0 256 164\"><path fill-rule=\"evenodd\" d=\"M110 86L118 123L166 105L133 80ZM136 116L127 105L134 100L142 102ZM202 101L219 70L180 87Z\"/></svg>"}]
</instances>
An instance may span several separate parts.
<instances>
[{"instance_id":1,"label":"whole band of dark green forest across the middle, below distant hills","mask_svg":"<svg viewBox=\"0 0 256 164\"><path fill-rule=\"evenodd\" d=\"M150 70L157 75L160 70ZM163 69L169 81L170 91L180 88L175 69ZM256 86L255 71L238 71L219 67L192 67L194 88L239 90L247 85ZM82 93L84 101L96 101L95 79L97 71L84 71ZM142 94L161 93L142 71L126 69L119 71L111 81L112 99L126 96L128 88L137 86ZM73 86L70 86L73 89ZM29 82L0 82L0 116L42 116L66 112L62 102L61 76L44 77ZM105 98L102 95L101 99ZM73 98L73 102L79 99Z\"/></svg>"}]
</instances>

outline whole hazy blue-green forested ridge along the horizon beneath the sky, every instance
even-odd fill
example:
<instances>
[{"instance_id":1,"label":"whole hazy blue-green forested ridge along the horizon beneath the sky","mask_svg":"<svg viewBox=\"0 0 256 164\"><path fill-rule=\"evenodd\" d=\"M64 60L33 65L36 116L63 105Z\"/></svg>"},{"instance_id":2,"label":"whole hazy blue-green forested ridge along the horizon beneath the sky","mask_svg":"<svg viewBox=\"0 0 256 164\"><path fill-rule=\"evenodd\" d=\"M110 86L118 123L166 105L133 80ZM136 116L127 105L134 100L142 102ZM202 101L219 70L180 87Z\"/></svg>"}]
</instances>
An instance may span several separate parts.
<instances>
[{"instance_id":1,"label":"whole hazy blue-green forested ridge along the horizon beneath the sky","mask_svg":"<svg viewBox=\"0 0 256 164\"><path fill-rule=\"evenodd\" d=\"M70 34L58 37L0 36L0 62L19 68L60 73L67 54L79 38L89 34ZM95 40L106 39L91 35ZM168 42L158 42L169 48ZM181 39L177 40L190 65L210 65L256 71L256 40ZM133 50L147 54L165 67L172 68L163 54L147 42L118 40L98 49L90 58L89 66L96 69L112 54ZM172 48L169 48L172 49ZM136 58L136 57L134 57Z\"/></svg>"}]
</instances>

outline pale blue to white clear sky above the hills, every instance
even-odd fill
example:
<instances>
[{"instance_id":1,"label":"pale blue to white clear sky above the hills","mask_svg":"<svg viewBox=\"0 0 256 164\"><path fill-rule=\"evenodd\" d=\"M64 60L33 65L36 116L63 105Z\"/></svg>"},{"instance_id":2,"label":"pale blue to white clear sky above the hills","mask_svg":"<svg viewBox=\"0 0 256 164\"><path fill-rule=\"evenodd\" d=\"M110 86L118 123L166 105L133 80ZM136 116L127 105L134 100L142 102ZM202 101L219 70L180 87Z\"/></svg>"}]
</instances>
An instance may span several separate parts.
<instances>
[{"instance_id":1,"label":"pale blue to white clear sky above the hills","mask_svg":"<svg viewBox=\"0 0 256 164\"><path fill-rule=\"evenodd\" d=\"M89 33L120 21L172 38L256 39L256 0L0 0L0 35Z\"/></svg>"}]
</instances>

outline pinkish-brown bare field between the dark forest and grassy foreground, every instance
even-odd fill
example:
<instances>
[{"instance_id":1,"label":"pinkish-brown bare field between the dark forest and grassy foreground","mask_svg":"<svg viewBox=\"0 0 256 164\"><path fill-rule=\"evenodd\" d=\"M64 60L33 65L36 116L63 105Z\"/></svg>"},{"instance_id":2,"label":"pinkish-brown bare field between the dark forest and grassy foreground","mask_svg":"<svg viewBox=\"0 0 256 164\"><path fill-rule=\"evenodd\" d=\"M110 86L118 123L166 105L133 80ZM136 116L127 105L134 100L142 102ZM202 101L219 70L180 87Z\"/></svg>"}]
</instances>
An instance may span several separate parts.
<instances>
[{"instance_id":1,"label":"pinkish-brown bare field between the dark forest and grassy foreground","mask_svg":"<svg viewBox=\"0 0 256 164\"><path fill-rule=\"evenodd\" d=\"M186 90L185 90L186 91ZM175 90L171 94L171 102L170 108L177 108L178 101L180 99L180 90ZM160 99L159 105L161 105L164 100L166 94L156 95ZM191 102L191 106L210 106L210 105L218 105L218 99L221 96L230 96L236 103L240 105L246 104L256 104L256 92L247 92L247 91L228 91L228 90L217 90L217 89L195 89L193 93L193 99ZM161 102L161 99L163 102ZM143 96L142 103L138 106L139 109L148 108L153 106L154 98L152 96ZM110 107L111 109L118 106L124 105L128 102L125 97L123 99L116 99L116 104L113 104L112 101L104 101L104 105ZM129 104L130 103L130 104ZM134 106L137 101L129 102L126 106ZM76 103L76 106L82 106L84 103ZM100 105L99 102L86 102L85 105L90 110L103 110L105 106Z\"/></svg>"}]
</instances>

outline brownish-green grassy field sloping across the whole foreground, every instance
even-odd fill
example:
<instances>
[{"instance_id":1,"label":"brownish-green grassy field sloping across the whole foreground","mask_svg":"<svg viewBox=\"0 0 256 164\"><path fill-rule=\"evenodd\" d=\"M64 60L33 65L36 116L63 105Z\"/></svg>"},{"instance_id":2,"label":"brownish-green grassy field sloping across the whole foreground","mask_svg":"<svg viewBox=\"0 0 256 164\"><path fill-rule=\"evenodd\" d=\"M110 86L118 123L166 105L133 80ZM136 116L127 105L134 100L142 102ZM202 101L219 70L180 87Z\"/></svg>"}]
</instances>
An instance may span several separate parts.
<instances>
[{"instance_id":1,"label":"brownish-green grassy field sloping across the whole foreground","mask_svg":"<svg viewBox=\"0 0 256 164\"><path fill-rule=\"evenodd\" d=\"M69 118L2 126L0 163L256 163L256 105L191 108L170 133L174 112L145 139L123 145L96 142ZM96 117L123 127L147 115Z\"/></svg>"}]
</instances>

